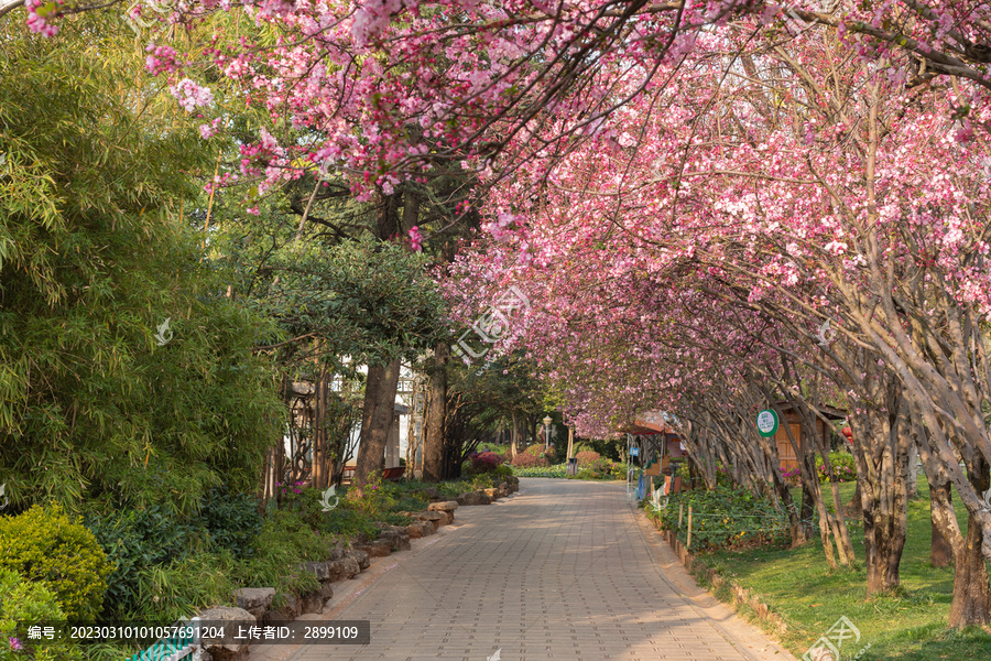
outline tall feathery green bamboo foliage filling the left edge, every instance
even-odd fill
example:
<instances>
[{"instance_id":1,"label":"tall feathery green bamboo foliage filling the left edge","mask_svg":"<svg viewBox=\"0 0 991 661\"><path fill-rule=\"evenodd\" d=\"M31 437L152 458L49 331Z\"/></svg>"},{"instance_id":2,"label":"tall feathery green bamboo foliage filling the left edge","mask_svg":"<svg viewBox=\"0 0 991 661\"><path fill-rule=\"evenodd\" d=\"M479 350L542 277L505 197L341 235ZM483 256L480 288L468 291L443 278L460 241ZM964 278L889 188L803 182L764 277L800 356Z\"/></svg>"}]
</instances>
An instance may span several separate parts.
<instances>
[{"instance_id":1,"label":"tall feathery green bamboo foliage filling the left edge","mask_svg":"<svg viewBox=\"0 0 991 661\"><path fill-rule=\"evenodd\" d=\"M22 23L0 19L8 511L188 510L210 486L251 488L279 436L272 371L251 351L273 329L225 295L186 221L216 153L116 17L67 20L55 39Z\"/></svg>"}]
</instances>

